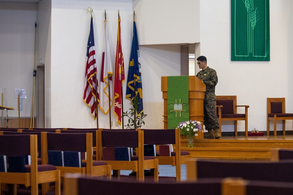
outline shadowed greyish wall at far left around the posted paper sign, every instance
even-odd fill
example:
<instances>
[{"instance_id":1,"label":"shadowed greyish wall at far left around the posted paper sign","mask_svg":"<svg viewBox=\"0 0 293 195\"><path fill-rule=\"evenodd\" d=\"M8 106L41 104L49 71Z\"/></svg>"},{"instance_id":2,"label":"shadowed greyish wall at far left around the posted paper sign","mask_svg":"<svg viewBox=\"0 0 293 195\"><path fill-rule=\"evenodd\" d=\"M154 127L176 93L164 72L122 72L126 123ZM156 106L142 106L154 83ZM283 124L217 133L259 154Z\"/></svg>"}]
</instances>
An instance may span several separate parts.
<instances>
[{"instance_id":1,"label":"shadowed greyish wall at far left around the posted paper sign","mask_svg":"<svg viewBox=\"0 0 293 195\"><path fill-rule=\"evenodd\" d=\"M18 117L14 89L26 89L20 116L31 115L36 10L33 3L0 2L0 93L3 106L14 108L9 117Z\"/></svg>"}]
</instances>

